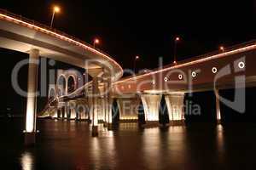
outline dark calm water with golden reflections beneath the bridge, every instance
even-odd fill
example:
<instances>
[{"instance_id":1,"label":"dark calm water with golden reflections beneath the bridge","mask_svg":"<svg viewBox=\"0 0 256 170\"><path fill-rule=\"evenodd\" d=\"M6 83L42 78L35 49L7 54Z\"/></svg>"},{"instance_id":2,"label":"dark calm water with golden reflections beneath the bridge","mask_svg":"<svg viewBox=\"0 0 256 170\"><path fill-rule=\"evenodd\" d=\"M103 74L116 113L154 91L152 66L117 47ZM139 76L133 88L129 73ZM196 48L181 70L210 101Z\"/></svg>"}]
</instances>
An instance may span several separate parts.
<instances>
[{"instance_id":1,"label":"dark calm water with golden reflections beneath the bridge","mask_svg":"<svg viewBox=\"0 0 256 170\"><path fill-rule=\"evenodd\" d=\"M120 124L90 137L87 122L38 122L38 144L22 145L23 122L1 120L0 169L255 169L256 126L140 129Z\"/></svg>"}]
</instances>

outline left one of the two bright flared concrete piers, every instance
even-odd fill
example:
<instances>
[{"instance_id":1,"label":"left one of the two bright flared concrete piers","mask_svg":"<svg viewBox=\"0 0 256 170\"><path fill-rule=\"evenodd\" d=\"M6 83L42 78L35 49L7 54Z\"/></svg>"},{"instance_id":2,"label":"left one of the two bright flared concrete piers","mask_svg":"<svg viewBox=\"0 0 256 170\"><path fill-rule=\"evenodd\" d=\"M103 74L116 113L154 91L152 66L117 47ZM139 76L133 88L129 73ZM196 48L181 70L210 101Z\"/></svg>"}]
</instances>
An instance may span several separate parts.
<instances>
[{"instance_id":1,"label":"left one of the two bright flared concrete piers","mask_svg":"<svg viewBox=\"0 0 256 170\"><path fill-rule=\"evenodd\" d=\"M161 94L142 94L142 102L146 123L159 123Z\"/></svg>"}]
</instances>

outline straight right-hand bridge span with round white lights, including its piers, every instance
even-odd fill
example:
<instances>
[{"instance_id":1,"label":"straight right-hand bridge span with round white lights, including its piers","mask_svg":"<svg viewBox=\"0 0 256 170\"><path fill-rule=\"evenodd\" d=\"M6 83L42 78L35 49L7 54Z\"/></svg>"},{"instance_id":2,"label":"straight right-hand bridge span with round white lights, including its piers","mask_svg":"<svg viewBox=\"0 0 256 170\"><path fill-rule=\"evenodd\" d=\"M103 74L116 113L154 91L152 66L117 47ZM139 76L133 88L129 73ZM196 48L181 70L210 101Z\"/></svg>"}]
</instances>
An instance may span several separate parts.
<instances>
[{"instance_id":1,"label":"straight right-hand bridge span with round white lights, including its piers","mask_svg":"<svg viewBox=\"0 0 256 170\"><path fill-rule=\"evenodd\" d=\"M216 122L219 123L221 122L219 102L226 102L226 99L219 96L218 90L254 87L255 56L256 41L251 41L226 48L224 52L204 54L180 61L177 65L166 65L154 71L120 79L105 89L108 101L104 100L106 98L104 89L99 88L101 93L95 104L100 108L97 112L98 120L91 118L92 103L90 96L86 95L89 93L84 95L78 90L65 101L73 103L73 108L76 108L77 101L79 103L77 107L87 105L88 111L73 110L73 115L77 115L77 119L107 122L106 126L108 124L108 129L111 129L111 124L116 119L119 122L141 122L138 120L140 117L138 108L141 105L144 112L143 122L145 122L143 126L160 125L160 102L164 99L169 124L183 125L184 94L211 90L216 95ZM241 105L239 103L241 100L234 102L238 102L236 105ZM239 110L242 111L243 109ZM53 115L55 118L61 118L61 113Z\"/></svg>"}]
</instances>

